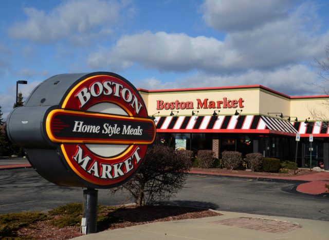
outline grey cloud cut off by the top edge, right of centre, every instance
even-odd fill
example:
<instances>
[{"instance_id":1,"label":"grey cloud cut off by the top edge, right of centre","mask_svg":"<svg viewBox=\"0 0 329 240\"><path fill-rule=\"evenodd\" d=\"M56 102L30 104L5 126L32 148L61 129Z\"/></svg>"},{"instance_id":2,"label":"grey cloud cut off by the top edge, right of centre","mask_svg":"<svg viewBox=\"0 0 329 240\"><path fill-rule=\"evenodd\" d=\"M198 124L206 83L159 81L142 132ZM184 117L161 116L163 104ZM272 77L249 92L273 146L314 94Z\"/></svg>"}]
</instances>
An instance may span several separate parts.
<instances>
[{"instance_id":1,"label":"grey cloud cut off by the top edge, right of centre","mask_svg":"<svg viewBox=\"0 0 329 240\"><path fill-rule=\"evenodd\" d=\"M251 30L284 19L291 0L206 0L202 5L206 24L218 31Z\"/></svg>"}]
</instances>

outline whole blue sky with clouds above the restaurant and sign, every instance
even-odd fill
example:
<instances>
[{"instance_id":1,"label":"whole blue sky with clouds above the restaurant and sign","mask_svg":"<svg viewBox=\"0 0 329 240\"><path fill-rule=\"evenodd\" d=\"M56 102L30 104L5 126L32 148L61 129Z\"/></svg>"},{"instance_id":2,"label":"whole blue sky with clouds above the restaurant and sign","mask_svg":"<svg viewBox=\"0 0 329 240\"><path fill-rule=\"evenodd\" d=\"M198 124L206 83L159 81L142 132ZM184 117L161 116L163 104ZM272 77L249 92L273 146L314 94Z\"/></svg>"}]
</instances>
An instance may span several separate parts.
<instances>
[{"instance_id":1,"label":"whole blue sky with clouds above the restaurant and sign","mask_svg":"<svg viewBox=\"0 0 329 240\"><path fill-rule=\"evenodd\" d=\"M263 85L322 95L329 1L11 0L0 7L0 106L61 73L115 72L148 90Z\"/></svg>"}]
</instances>

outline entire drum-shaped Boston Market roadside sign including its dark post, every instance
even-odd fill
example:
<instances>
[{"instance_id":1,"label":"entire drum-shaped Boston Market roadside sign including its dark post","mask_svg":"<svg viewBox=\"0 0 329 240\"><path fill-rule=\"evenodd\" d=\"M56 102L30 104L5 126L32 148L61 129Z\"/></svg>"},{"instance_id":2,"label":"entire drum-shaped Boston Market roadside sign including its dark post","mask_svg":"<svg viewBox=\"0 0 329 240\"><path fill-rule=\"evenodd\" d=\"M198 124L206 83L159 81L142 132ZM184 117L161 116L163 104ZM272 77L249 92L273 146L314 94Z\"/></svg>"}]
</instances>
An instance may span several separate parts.
<instances>
[{"instance_id":1,"label":"entire drum-shaped Boston Market roadside sign including its dark post","mask_svg":"<svg viewBox=\"0 0 329 240\"><path fill-rule=\"evenodd\" d=\"M96 232L97 188L113 188L140 168L156 128L138 90L111 72L46 79L7 121L35 171L61 186L84 187L82 231Z\"/></svg>"}]
</instances>

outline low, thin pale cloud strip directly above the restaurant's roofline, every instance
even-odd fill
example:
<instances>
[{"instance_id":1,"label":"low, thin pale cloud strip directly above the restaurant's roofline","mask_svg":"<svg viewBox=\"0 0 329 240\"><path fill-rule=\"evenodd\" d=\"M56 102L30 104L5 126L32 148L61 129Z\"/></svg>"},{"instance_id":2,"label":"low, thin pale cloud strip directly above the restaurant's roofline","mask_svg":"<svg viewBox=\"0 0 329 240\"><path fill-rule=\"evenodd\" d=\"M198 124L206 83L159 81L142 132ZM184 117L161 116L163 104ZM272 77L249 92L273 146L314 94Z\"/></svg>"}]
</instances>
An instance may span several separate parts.
<instances>
[{"instance_id":1,"label":"low, thin pale cloud strip directly above the restaurant's roofline","mask_svg":"<svg viewBox=\"0 0 329 240\"><path fill-rule=\"evenodd\" d=\"M153 90L263 85L291 96L324 94L322 88L314 86L317 81L318 76L312 69L304 65L291 65L273 71L249 70L242 74L233 75L215 75L199 72L171 83L162 83L156 78L148 78L137 81L136 86Z\"/></svg>"}]
</instances>

